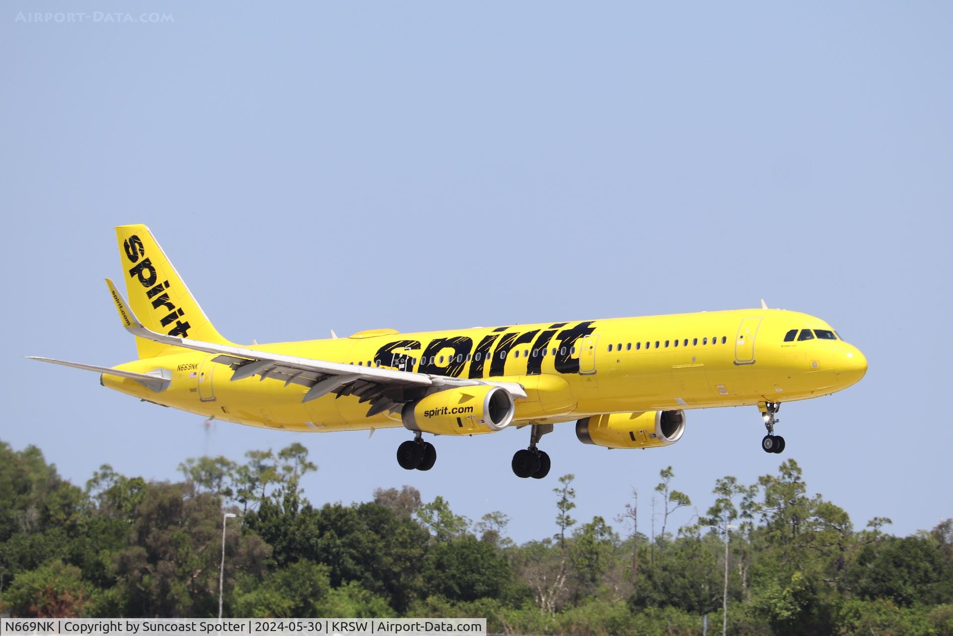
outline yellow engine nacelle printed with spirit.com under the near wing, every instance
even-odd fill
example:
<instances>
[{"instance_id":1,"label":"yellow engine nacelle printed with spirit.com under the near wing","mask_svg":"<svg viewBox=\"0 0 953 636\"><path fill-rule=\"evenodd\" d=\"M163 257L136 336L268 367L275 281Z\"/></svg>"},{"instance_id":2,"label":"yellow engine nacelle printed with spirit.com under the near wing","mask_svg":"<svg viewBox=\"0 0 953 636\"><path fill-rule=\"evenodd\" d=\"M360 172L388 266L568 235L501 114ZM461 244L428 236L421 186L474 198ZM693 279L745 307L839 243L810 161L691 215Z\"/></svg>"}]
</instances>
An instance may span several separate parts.
<instances>
[{"instance_id":1,"label":"yellow engine nacelle printed with spirit.com under the near wing","mask_svg":"<svg viewBox=\"0 0 953 636\"><path fill-rule=\"evenodd\" d=\"M501 387L447 388L404 407L404 427L437 435L477 435L510 426L517 407Z\"/></svg>"}]
</instances>

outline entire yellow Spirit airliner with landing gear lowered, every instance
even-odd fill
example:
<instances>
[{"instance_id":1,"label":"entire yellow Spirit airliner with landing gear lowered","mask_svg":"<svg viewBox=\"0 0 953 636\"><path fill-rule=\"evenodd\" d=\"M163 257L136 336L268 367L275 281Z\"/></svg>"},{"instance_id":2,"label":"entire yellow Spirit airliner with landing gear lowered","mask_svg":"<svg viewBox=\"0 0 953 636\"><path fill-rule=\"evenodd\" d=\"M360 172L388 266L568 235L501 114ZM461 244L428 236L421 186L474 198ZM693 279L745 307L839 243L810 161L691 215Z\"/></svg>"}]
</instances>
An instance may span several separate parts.
<instances>
[{"instance_id":1,"label":"entire yellow Spirit airliner with landing gear lowered","mask_svg":"<svg viewBox=\"0 0 953 636\"><path fill-rule=\"evenodd\" d=\"M405 427L407 469L429 470L422 439L530 427L519 477L545 477L540 437L576 422L580 442L663 447L685 411L757 406L767 435L781 403L829 395L867 370L861 351L820 318L766 308L235 345L198 307L148 228L116 228L131 303L107 279L139 359L113 368L32 358L101 373L147 402L254 427L331 431Z\"/></svg>"}]
</instances>

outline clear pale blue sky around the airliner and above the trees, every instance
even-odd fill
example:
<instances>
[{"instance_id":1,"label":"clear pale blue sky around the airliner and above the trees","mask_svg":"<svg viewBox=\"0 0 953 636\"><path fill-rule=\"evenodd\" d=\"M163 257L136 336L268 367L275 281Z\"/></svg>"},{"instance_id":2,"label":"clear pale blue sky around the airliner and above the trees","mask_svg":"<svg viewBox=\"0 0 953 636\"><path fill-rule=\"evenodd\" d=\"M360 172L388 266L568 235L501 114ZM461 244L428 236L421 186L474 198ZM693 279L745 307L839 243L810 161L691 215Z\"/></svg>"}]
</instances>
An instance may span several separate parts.
<instances>
[{"instance_id":1,"label":"clear pale blue sky around the airliner and above the trees","mask_svg":"<svg viewBox=\"0 0 953 636\"><path fill-rule=\"evenodd\" d=\"M639 487L647 531L659 469L703 512L718 477L781 462L749 407L690 412L678 445L645 451L557 427L542 482L510 471L525 429L440 438L435 469L406 472L406 431L206 430L24 360L134 356L102 279L112 226L145 223L237 342L762 297L821 316L870 370L782 409L785 456L858 526L931 527L953 515L951 21L947 3L7 3L0 439L79 484L300 441L316 503L411 484L510 514L517 541L555 530L564 473L581 520Z\"/></svg>"}]
</instances>

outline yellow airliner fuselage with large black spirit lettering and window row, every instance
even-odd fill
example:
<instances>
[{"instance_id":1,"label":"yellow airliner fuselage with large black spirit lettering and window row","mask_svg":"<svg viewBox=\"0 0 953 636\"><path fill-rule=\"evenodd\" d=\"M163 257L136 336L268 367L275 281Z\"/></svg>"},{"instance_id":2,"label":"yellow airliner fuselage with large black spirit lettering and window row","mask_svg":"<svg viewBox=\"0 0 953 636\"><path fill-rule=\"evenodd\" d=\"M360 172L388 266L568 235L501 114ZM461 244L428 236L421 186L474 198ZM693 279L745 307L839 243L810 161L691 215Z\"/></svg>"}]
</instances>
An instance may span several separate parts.
<instances>
[{"instance_id":1,"label":"yellow airliner fuselage with large black spirit lettering and window row","mask_svg":"<svg viewBox=\"0 0 953 636\"><path fill-rule=\"evenodd\" d=\"M514 382L516 424L577 420L598 413L738 407L827 395L860 380L861 351L846 342L790 342L791 329L827 329L814 316L781 309L711 311L504 328L398 333L259 345L253 349L364 367ZM366 417L355 396L302 403L307 388L258 377L231 381L214 355L186 349L117 368L163 370L153 391L104 375L103 384L205 417L298 431L400 427L399 413ZM179 352L181 351L181 352Z\"/></svg>"}]
</instances>

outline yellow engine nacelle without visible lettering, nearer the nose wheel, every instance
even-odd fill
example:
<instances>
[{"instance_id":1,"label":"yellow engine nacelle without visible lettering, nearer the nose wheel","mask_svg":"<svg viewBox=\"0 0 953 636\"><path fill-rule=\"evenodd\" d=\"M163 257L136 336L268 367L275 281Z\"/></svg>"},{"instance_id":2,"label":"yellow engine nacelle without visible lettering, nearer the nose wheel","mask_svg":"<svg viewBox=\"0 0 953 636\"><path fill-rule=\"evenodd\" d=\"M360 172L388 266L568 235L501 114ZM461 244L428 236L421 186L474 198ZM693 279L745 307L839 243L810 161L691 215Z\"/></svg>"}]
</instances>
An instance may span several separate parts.
<instances>
[{"instance_id":1,"label":"yellow engine nacelle without visible lettering, nearer the nose wheel","mask_svg":"<svg viewBox=\"0 0 953 636\"><path fill-rule=\"evenodd\" d=\"M580 442L607 448L667 447L678 442L683 432L683 410L607 413L576 423L576 436Z\"/></svg>"}]
</instances>

